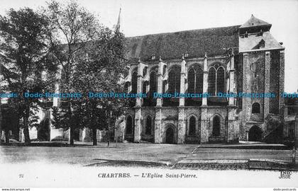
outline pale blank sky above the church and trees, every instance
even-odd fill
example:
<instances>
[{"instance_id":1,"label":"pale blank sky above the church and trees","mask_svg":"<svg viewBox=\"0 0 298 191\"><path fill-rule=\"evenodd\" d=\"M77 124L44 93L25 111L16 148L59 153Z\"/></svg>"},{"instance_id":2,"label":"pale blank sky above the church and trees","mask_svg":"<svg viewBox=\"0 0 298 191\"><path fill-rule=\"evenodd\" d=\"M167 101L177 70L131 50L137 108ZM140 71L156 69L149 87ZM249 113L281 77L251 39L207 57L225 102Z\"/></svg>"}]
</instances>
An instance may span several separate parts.
<instances>
[{"instance_id":1,"label":"pale blank sky above the church and trees","mask_svg":"<svg viewBox=\"0 0 298 191\"><path fill-rule=\"evenodd\" d=\"M298 0L78 0L112 27L121 11L126 36L167 33L198 28L241 25L251 14L272 24L270 32L284 42L285 91L298 88ZM0 0L0 14L9 8L44 6L45 0Z\"/></svg>"}]
</instances>

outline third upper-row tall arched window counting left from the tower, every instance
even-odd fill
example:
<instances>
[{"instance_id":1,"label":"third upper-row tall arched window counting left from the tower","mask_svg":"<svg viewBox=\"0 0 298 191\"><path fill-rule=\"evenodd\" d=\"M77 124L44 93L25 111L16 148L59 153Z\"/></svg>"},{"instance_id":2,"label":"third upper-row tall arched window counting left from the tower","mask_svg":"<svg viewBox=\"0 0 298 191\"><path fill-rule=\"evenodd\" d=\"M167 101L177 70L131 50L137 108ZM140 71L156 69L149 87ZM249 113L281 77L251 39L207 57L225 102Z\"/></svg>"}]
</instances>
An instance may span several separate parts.
<instances>
[{"instance_id":1,"label":"third upper-row tall arched window counting left from the tower","mask_svg":"<svg viewBox=\"0 0 298 191\"><path fill-rule=\"evenodd\" d=\"M168 81L168 92L169 93L180 93L180 67L174 66L169 71L169 81Z\"/></svg>"}]
</instances>

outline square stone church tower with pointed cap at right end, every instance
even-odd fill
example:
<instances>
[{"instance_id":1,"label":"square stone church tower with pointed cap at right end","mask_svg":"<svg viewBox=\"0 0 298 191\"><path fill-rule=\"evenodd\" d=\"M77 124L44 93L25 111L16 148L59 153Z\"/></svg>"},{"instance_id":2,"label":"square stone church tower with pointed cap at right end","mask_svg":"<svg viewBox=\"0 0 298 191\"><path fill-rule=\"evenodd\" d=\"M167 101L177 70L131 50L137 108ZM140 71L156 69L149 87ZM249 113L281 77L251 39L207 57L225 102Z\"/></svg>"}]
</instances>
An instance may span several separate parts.
<instances>
[{"instance_id":1,"label":"square stone church tower with pointed cap at right end","mask_svg":"<svg viewBox=\"0 0 298 191\"><path fill-rule=\"evenodd\" d=\"M267 117L283 119L285 47L270 34L271 24L251 16L239 27L239 55L243 81L238 92L274 93L272 98L242 98L241 139L264 141Z\"/></svg>"}]
</instances>

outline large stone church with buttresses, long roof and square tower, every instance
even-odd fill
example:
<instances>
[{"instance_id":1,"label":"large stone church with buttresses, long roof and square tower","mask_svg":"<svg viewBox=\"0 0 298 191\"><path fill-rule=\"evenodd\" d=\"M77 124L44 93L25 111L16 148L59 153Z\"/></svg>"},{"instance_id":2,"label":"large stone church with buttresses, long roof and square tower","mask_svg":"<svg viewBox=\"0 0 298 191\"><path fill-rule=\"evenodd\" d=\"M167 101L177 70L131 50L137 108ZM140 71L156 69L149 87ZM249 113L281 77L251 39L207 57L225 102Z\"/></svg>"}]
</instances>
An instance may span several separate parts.
<instances>
[{"instance_id":1,"label":"large stone church with buttresses, long roof and square tower","mask_svg":"<svg viewBox=\"0 0 298 191\"><path fill-rule=\"evenodd\" d=\"M283 120L285 47L271 24L251 16L243 25L127 37L131 100L115 132L122 141L206 144L265 141L281 136L267 117ZM208 93L155 98L154 93ZM275 98L223 98L218 93L275 93Z\"/></svg>"}]
</instances>

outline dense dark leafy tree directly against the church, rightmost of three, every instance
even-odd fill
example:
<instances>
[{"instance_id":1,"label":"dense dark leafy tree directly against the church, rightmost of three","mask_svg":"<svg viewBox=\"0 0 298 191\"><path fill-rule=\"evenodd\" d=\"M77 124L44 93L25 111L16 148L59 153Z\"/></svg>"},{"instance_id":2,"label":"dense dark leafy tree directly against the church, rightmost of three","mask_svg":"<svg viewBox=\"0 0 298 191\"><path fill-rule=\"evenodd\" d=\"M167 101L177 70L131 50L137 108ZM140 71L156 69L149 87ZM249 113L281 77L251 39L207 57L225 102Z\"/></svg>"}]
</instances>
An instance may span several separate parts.
<instances>
[{"instance_id":1,"label":"dense dark leafy tree directly against the church, rightmost of three","mask_svg":"<svg viewBox=\"0 0 298 191\"><path fill-rule=\"evenodd\" d=\"M74 91L81 92L82 98L70 99L72 103L72 119L67 110L55 109L54 119L58 127L67 126L67 121L74 128L92 129L93 144L97 144L96 129L108 129L123 113L127 100L123 98L89 98L89 92L123 93L121 76L125 75L124 57L125 38L118 31L101 28L96 40L88 42L84 52L77 57L71 86ZM78 53L79 54L79 53ZM112 115L111 115L112 114Z\"/></svg>"}]
</instances>

